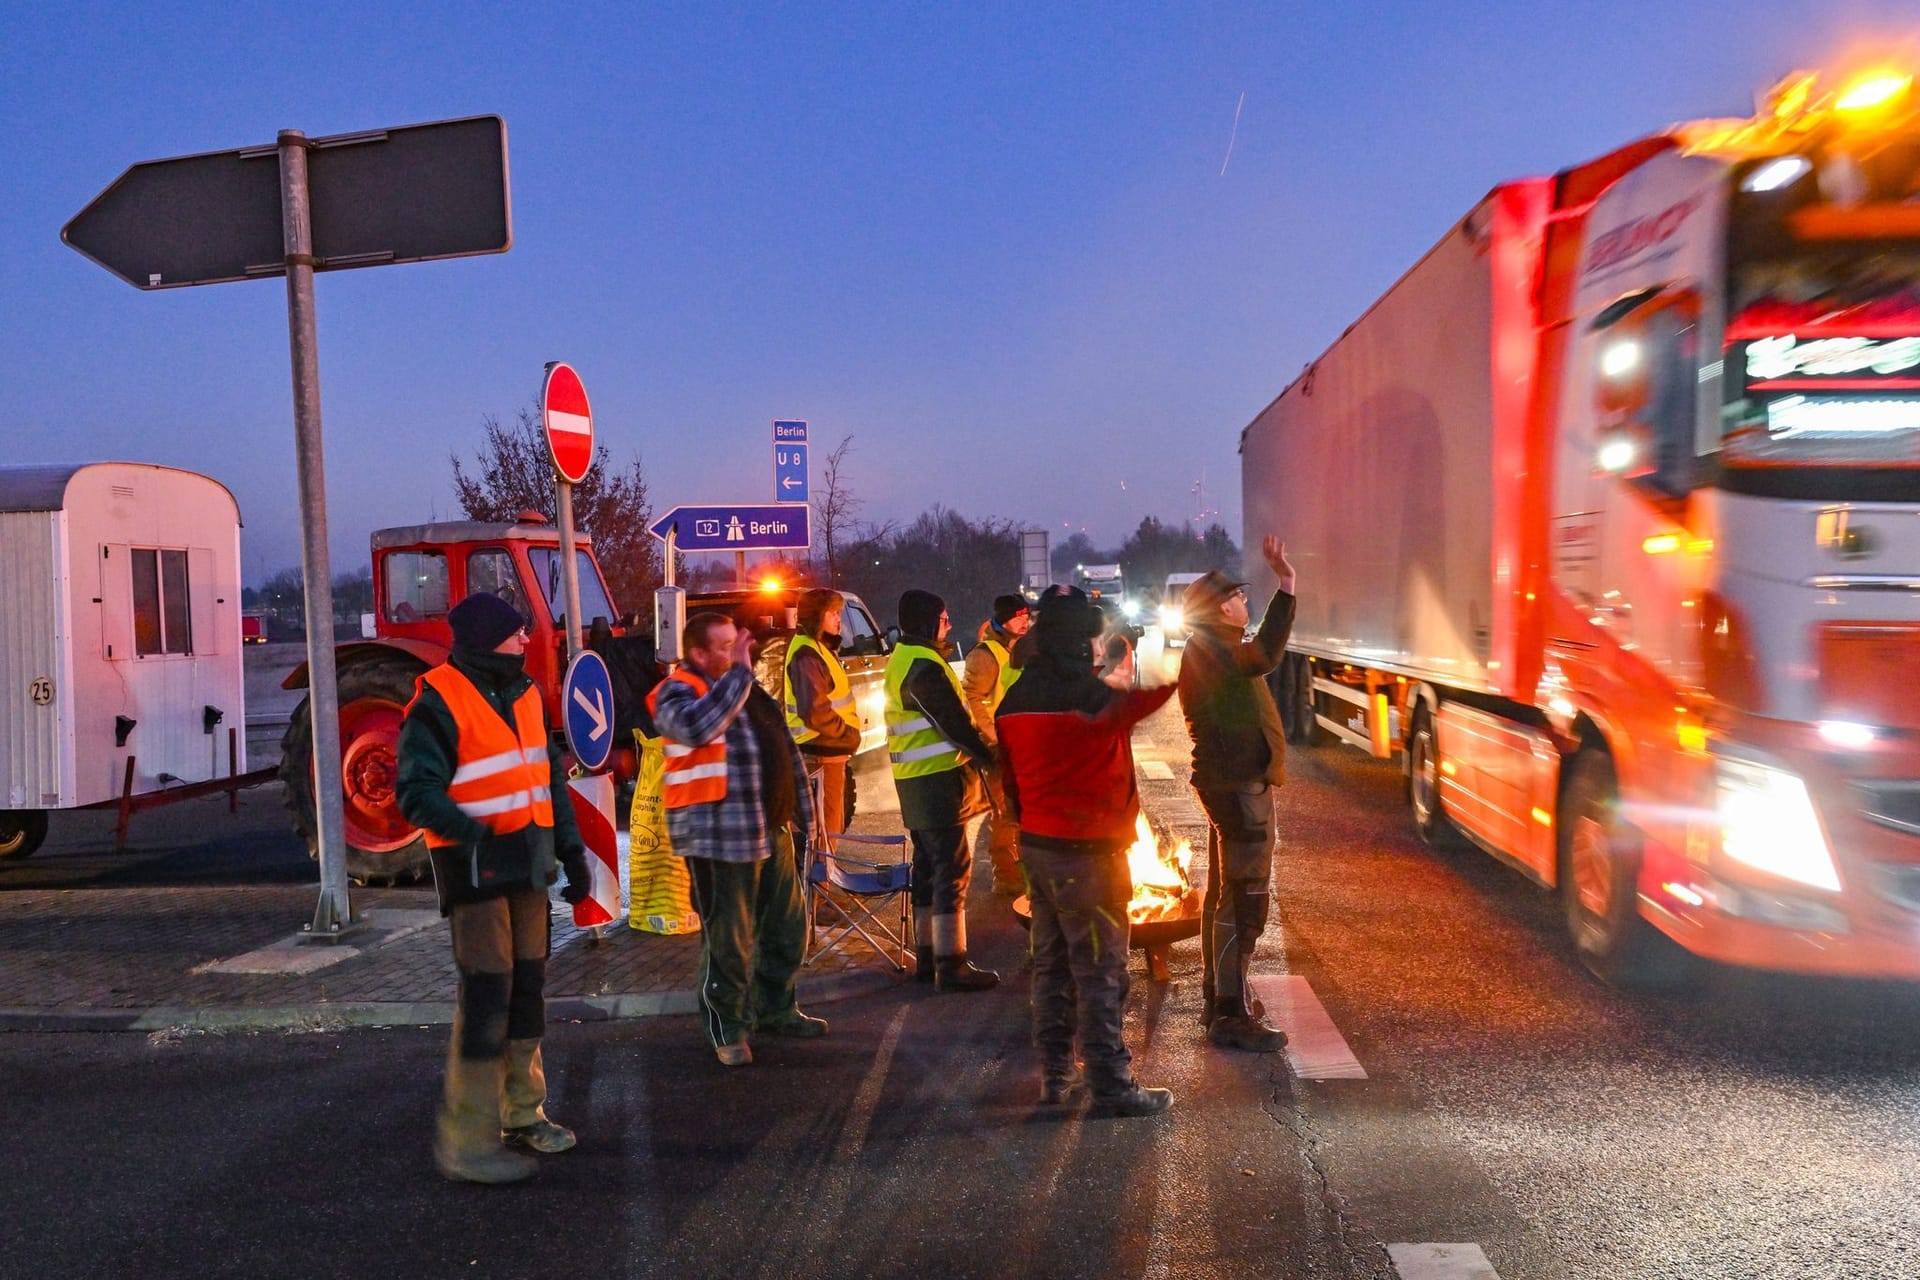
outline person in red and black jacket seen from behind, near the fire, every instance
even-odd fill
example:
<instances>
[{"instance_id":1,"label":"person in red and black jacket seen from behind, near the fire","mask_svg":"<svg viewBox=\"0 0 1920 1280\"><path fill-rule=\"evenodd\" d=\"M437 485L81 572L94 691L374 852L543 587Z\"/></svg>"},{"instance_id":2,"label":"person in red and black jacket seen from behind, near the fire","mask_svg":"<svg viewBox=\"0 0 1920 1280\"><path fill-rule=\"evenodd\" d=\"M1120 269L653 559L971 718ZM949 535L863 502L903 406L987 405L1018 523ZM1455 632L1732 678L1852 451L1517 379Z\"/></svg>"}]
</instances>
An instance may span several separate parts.
<instances>
[{"instance_id":1,"label":"person in red and black jacket seen from behind, near the fire","mask_svg":"<svg viewBox=\"0 0 1920 1280\"><path fill-rule=\"evenodd\" d=\"M1127 904L1140 794L1133 727L1167 704L1173 687L1116 689L1094 674L1104 618L1085 595L1041 603L1035 654L995 716L1006 798L1020 816L1020 858L1033 904L1033 1042L1041 1105L1091 1086L1112 1115L1154 1115L1173 1103L1133 1079L1121 1038L1127 1004ZM1085 1077L1075 1069L1075 1034Z\"/></svg>"}]
</instances>

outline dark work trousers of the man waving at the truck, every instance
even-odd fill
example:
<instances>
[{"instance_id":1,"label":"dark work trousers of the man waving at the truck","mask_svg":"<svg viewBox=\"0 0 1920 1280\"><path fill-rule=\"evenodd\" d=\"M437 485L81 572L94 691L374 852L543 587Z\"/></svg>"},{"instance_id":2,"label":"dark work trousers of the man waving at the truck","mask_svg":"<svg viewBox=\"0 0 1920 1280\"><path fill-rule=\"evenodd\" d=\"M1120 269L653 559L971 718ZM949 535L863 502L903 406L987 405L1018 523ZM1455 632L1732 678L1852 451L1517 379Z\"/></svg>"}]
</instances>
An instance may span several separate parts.
<instances>
[{"instance_id":1,"label":"dark work trousers of the man waving at the truck","mask_svg":"<svg viewBox=\"0 0 1920 1280\"><path fill-rule=\"evenodd\" d=\"M1208 1004L1246 1000L1246 967L1267 929L1267 887L1273 881L1273 789L1250 783L1238 791L1202 791L1200 808L1212 823L1206 902L1200 908L1204 944L1202 990Z\"/></svg>"}]
</instances>

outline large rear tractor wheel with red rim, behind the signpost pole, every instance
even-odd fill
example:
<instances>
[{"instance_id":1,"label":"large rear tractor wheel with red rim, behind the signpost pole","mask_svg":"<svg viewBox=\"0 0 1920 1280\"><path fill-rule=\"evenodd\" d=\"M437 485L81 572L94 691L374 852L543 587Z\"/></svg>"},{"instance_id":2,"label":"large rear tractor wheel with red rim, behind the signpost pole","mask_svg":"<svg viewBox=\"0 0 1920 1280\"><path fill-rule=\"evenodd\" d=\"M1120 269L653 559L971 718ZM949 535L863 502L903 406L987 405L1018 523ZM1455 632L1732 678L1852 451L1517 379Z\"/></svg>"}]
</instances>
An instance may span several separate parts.
<instances>
[{"instance_id":1,"label":"large rear tractor wheel with red rim, behind the signpost pole","mask_svg":"<svg viewBox=\"0 0 1920 1280\"><path fill-rule=\"evenodd\" d=\"M348 875L359 885L401 885L430 873L426 837L399 814L399 722L424 672L399 654L340 672L340 787L346 800ZM313 729L301 702L286 725L280 779L294 829L319 858L313 812Z\"/></svg>"}]
</instances>

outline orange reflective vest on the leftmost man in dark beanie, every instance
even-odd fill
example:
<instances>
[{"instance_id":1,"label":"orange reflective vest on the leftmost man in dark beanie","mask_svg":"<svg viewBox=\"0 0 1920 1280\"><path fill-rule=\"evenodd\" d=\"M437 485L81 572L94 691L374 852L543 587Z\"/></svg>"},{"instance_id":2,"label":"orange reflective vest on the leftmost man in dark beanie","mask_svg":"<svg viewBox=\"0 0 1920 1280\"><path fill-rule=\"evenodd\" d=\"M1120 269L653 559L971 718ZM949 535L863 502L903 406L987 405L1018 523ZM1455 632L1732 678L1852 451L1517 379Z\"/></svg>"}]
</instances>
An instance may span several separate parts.
<instances>
[{"instance_id":1,"label":"orange reflective vest on the leftmost man in dark beanie","mask_svg":"<svg viewBox=\"0 0 1920 1280\"><path fill-rule=\"evenodd\" d=\"M486 700L474 683L451 666L436 666L415 683L413 697L430 685L453 714L457 758L447 796L474 821L495 835L522 827L553 827L553 764L547 758L547 720L540 708L540 689L528 687L513 704L513 723ZM407 704L413 710L413 704ZM436 831L426 833L430 848L451 848Z\"/></svg>"}]
</instances>

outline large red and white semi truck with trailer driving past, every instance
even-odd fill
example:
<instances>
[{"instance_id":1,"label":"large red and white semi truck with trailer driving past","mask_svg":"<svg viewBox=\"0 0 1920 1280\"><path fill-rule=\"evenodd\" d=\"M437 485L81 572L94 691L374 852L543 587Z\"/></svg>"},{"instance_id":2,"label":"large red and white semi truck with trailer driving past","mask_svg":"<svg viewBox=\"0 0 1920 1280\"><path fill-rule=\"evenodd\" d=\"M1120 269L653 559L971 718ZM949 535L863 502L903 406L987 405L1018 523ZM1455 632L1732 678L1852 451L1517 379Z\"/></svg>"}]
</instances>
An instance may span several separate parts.
<instances>
[{"instance_id":1,"label":"large red and white semi truck with trailer driving past","mask_svg":"<svg viewBox=\"0 0 1920 1280\"><path fill-rule=\"evenodd\" d=\"M1288 712L1588 967L1920 977L1910 75L1496 186L1240 453Z\"/></svg>"}]
</instances>

